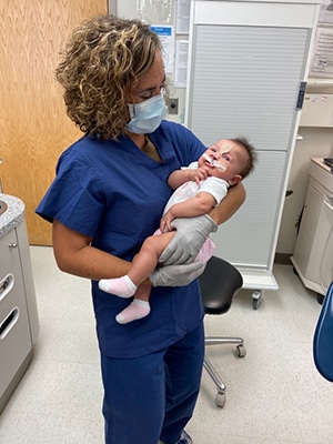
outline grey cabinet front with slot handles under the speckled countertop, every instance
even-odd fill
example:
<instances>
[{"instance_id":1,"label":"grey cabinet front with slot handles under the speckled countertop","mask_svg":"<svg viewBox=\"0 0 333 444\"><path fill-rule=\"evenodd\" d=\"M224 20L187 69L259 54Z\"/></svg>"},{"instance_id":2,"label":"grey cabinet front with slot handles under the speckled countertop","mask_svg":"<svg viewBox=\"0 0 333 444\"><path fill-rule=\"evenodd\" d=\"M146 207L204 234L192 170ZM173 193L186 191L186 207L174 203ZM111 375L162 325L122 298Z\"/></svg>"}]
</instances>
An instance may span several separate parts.
<instances>
[{"instance_id":1,"label":"grey cabinet front with slot handles under the speckled countertop","mask_svg":"<svg viewBox=\"0 0 333 444\"><path fill-rule=\"evenodd\" d=\"M0 413L31 362L39 330L26 242L24 222L0 239Z\"/></svg>"}]
</instances>

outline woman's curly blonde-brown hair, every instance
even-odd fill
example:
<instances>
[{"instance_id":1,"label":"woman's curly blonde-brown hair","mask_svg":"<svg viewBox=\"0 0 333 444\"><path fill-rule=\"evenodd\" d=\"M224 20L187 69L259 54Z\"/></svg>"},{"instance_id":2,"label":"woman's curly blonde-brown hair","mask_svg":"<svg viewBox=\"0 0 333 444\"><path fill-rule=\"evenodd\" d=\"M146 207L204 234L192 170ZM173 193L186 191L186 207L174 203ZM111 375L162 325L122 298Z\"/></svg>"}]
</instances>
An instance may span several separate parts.
<instances>
[{"instance_id":1,"label":"woman's curly blonde-brown hair","mask_svg":"<svg viewBox=\"0 0 333 444\"><path fill-rule=\"evenodd\" d=\"M56 70L69 118L90 137L127 134L131 91L157 50L159 37L140 20L98 16L81 23Z\"/></svg>"}]
</instances>

